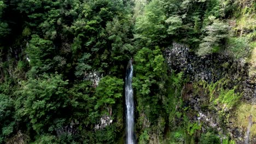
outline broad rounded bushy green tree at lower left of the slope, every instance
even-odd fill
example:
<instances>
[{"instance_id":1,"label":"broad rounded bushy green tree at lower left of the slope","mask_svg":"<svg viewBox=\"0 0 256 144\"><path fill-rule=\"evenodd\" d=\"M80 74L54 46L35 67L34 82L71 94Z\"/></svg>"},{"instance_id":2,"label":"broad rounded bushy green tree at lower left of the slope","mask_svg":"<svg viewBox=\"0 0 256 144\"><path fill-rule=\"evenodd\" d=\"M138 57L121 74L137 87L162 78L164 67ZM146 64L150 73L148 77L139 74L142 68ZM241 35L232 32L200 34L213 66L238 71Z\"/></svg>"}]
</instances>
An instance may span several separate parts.
<instances>
[{"instance_id":1,"label":"broad rounded bushy green tree at lower left of the slope","mask_svg":"<svg viewBox=\"0 0 256 144\"><path fill-rule=\"evenodd\" d=\"M67 107L69 98L61 75L43 75L22 83L20 95L15 101L16 118L28 118L34 130L42 133L48 130L53 118Z\"/></svg>"}]
</instances>

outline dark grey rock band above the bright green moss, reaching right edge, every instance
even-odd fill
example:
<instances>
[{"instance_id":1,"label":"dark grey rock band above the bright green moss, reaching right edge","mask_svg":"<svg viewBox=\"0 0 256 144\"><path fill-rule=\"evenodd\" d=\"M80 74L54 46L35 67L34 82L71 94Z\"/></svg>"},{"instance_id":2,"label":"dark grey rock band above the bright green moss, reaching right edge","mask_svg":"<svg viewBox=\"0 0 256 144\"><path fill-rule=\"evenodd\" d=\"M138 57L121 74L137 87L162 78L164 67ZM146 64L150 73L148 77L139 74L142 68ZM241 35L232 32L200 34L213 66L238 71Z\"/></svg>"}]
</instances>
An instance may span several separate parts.
<instances>
[{"instance_id":1,"label":"dark grey rock band above the bright green moss, reaching right edge","mask_svg":"<svg viewBox=\"0 0 256 144\"><path fill-rule=\"evenodd\" d=\"M238 90L244 92L242 99L256 103L255 77L248 76L249 65L242 59L234 60L216 53L199 57L190 52L188 46L176 42L165 50L164 55L168 66L177 72L183 71L190 82L205 80L210 83L228 78L231 80L229 88L240 86Z\"/></svg>"}]
</instances>

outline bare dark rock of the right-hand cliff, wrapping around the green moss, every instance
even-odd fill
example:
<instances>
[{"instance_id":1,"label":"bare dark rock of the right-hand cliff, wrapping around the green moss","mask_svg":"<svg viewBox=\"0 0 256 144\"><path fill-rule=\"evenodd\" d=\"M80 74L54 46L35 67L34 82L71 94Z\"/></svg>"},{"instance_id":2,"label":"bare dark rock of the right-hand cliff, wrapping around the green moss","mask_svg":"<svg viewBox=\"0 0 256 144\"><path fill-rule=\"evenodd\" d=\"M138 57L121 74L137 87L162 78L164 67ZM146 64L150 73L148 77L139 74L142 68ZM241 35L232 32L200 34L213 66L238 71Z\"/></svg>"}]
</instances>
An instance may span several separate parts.
<instances>
[{"instance_id":1,"label":"bare dark rock of the right-hand cliff, wrapping around the green moss","mask_svg":"<svg viewBox=\"0 0 256 144\"><path fill-rule=\"evenodd\" d=\"M220 54L199 57L191 52L188 46L175 42L164 54L171 70L176 70L176 73L183 71L184 75L189 77L189 82L183 89L182 99L185 106L191 108L188 112L190 121L202 124L202 132L207 129L216 129L219 133L229 131L237 143L245 143L245 131L235 127L233 123L222 122L216 109L209 107L210 97L203 91L197 92L196 95L193 93L193 83L199 80L211 83L229 79L226 88L238 86L236 91L243 92L242 101L256 104L255 77L248 76L248 63Z\"/></svg>"}]
</instances>

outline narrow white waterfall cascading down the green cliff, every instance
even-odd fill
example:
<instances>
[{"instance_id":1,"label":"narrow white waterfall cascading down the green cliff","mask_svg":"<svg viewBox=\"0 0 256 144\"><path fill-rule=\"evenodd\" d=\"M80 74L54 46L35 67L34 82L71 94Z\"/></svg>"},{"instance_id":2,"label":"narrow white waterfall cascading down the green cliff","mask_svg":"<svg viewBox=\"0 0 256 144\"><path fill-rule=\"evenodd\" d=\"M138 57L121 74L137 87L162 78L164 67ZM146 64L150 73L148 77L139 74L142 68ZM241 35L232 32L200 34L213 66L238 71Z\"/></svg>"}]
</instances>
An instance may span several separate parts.
<instances>
[{"instance_id":1,"label":"narrow white waterfall cascading down the green cliff","mask_svg":"<svg viewBox=\"0 0 256 144\"><path fill-rule=\"evenodd\" d=\"M132 89L132 60L129 61L125 77L125 104L126 104L126 143L133 144L134 111Z\"/></svg>"}]
</instances>

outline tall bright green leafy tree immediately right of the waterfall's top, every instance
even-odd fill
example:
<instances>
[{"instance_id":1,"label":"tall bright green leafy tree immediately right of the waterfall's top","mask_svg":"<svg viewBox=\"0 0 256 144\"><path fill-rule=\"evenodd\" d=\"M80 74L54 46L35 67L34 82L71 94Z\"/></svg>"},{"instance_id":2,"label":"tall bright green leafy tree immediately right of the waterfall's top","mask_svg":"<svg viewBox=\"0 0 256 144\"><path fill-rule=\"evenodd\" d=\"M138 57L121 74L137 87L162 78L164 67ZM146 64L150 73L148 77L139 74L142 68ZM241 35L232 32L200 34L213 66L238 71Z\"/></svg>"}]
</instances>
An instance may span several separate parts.
<instances>
[{"instance_id":1,"label":"tall bright green leafy tree immediately right of the waterfall's top","mask_svg":"<svg viewBox=\"0 0 256 144\"><path fill-rule=\"evenodd\" d=\"M159 91L165 91L167 73L164 57L159 47L155 47L155 50L143 47L134 61L136 75L132 85L137 95L138 111L145 111L147 116L155 116L159 112L158 103L162 94Z\"/></svg>"}]
</instances>

